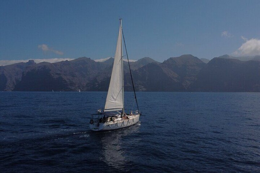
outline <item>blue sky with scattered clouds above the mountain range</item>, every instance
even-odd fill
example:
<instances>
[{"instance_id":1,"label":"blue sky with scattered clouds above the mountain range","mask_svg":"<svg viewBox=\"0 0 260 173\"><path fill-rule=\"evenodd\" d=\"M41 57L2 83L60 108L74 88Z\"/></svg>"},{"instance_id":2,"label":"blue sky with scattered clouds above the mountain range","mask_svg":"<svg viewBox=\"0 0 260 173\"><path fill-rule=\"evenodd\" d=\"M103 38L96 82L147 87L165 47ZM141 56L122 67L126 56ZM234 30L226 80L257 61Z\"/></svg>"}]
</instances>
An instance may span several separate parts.
<instances>
[{"instance_id":1,"label":"blue sky with scattered clouds above the mountain range","mask_svg":"<svg viewBox=\"0 0 260 173\"><path fill-rule=\"evenodd\" d=\"M2 0L0 60L113 56L119 17L130 59L257 55L259 9L248 0Z\"/></svg>"}]
</instances>

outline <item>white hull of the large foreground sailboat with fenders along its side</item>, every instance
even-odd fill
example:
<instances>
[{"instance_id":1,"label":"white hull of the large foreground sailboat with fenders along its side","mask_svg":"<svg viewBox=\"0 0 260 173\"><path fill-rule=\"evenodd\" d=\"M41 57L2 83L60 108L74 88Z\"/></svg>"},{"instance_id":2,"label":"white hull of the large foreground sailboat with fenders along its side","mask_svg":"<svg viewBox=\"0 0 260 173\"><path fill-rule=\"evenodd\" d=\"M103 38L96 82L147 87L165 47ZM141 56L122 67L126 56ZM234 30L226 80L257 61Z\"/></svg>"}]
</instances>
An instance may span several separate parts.
<instances>
[{"instance_id":1,"label":"white hull of the large foreground sailboat with fenders along its side","mask_svg":"<svg viewBox=\"0 0 260 173\"><path fill-rule=\"evenodd\" d=\"M93 124L90 124L89 127L93 131L121 129L136 124L137 122L139 122L139 117L140 114L136 114L136 115L130 115L129 119L127 120L118 120L115 122L105 122L105 123L94 122Z\"/></svg>"}]
</instances>

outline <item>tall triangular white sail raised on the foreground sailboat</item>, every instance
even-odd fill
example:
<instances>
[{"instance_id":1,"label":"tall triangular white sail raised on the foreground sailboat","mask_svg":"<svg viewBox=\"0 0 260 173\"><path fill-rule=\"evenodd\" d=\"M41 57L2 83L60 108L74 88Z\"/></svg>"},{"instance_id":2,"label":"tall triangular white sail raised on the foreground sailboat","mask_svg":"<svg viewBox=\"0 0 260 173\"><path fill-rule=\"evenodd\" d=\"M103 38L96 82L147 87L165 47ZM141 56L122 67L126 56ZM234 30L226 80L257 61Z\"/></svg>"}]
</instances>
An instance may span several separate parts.
<instances>
[{"instance_id":1,"label":"tall triangular white sail raised on the foreground sailboat","mask_svg":"<svg viewBox=\"0 0 260 173\"><path fill-rule=\"evenodd\" d=\"M117 39L117 50L114 58L114 65L106 97L105 110L123 108L123 86L122 86L122 49L121 49L121 25Z\"/></svg>"}]
</instances>

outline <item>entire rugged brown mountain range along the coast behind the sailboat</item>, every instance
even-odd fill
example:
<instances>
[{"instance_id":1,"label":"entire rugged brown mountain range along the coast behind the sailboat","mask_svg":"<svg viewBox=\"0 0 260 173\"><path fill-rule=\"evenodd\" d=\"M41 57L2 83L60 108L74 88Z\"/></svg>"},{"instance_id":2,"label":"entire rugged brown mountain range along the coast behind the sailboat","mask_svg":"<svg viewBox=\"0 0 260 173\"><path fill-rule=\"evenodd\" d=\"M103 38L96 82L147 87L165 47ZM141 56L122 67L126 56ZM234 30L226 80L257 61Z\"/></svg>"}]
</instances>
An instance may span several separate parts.
<instances>
[{"instance_id":1,"label":"entire rugged brown mountain range along the coast behind the sailboat","mask_svg":"<svg viewBox=\"0 0 260 173\"><path fill-rule=\"evenodd\" d=\"M238 58L243 61L223 55L205 63L182 55L160 63L145 57L130 66L137 91L260 92L259 56ZM0 66L0 91L107 91L112 67L113 58L96 62L86 57ZM125 91L132 91L128 62L124 85Z\"/></svg>"}]
</instances>

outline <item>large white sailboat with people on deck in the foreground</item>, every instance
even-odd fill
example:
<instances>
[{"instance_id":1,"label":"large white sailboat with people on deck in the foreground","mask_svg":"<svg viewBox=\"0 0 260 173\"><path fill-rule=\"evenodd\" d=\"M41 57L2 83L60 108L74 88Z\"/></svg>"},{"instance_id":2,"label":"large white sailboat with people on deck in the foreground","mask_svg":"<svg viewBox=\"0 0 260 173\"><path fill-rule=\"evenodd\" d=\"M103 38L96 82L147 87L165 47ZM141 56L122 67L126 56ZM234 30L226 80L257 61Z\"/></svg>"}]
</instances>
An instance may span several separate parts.
<instances>
[{"instance_id":1,"label":"large white sailboat with people on deck in the foreground","mask_svg":"<svg viewBox=\"0 0 260 173\"><path fill-rule=\"evenodd\" d=\"M115 130L128 126L132 126L139 122L141 113L139 112L138 103L136 99L136 92L133 85L137 111L126 113L124 109L124 70L123 70L123 48L122 37L124 33L122 30L122 19L120 19L120 27L117 39L117 49L115 53L112 74L109 83L109 89L106 97L105 108L99 109L97 114L92 114L89 127L93 131ZM125 46L125 40L124 40ZM127 59L128 54L125 47ZM128 66L132 79L129 59ZM132 79L133 84L133 79Z\"/></svg>"}]
</instances>

